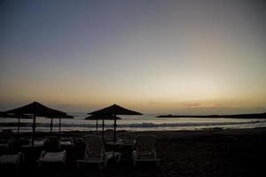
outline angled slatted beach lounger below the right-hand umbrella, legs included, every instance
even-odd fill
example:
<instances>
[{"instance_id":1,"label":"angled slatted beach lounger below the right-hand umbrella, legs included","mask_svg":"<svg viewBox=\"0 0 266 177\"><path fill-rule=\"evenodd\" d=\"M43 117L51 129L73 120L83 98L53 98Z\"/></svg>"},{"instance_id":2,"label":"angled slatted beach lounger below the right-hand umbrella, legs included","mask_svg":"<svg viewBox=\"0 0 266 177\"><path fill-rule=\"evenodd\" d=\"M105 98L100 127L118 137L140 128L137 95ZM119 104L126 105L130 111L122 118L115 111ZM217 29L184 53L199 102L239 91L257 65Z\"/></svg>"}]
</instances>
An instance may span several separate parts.
<instances>
[{"instance_id":1,"label":"angled slatted beach lounger below the right-hand umbrella, legs included","mask_svg":"<svg viewBox=\"0 0 266 177\"><path fill-rule=\"evenodd\" d=\"M104 143L98 135L85 135L85 153L83 159L76 160L78 167L80 164L97 163L99 168L107 166L108 161L114 158L115 161L120 161L121 153L106 151Z\"/></svg>"}]
</instances>

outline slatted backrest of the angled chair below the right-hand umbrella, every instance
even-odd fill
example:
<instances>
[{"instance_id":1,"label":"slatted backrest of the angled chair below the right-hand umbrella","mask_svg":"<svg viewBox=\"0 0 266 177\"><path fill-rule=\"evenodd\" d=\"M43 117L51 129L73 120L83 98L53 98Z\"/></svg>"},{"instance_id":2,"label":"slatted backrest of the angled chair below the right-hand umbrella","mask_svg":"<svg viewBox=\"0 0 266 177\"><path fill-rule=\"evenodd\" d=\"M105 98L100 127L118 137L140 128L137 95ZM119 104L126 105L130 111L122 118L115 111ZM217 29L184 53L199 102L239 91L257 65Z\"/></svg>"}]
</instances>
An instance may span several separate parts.
<instances>
[{"instance_id":1,"label":"slatted backrest of the angled chair below the right-hand umbrella","mask_svg":"<svg viewBox=\"0 0 266 177\"><path fill-rule=\"evenodd\" d=\"M105 146L100 136L85 135L83 139L85 143L84 159L104 158L106 156Z\"/></svg>"}]
</instances>

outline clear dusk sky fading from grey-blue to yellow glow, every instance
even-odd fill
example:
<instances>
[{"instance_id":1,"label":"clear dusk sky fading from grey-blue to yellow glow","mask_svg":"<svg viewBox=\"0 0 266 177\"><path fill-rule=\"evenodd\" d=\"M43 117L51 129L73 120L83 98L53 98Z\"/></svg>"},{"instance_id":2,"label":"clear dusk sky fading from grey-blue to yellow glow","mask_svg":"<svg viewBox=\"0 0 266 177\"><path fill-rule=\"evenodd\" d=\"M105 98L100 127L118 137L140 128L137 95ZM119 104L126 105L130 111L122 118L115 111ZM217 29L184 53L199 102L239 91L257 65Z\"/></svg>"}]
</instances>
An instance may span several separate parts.
<instances>
[{"instance_id":1,"label":"clear dusk sky fading from grey-blue to yellow glow","mask_svg":"<svg viewBox=\"0 0 266 177\"><path fill-rule=\"evenodd\" d=\"M0 111L266 112L266 4L3 0Z\"/></svg>"}]
</instances>

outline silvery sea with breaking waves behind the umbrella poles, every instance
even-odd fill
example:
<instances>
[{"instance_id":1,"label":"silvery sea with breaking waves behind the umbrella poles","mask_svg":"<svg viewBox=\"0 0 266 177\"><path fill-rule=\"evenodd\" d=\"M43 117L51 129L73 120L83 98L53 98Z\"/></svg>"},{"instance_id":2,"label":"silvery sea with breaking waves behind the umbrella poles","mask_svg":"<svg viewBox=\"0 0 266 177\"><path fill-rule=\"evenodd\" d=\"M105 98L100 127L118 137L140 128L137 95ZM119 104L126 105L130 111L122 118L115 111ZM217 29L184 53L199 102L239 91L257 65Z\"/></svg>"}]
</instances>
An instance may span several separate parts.
<instances>
[{"instance_id":1,"label":"silvery sea with breaking waves behind the umbrella poles","mask_svg":"<svg viewBox=\"0 0 266 177\"><path fill-rule=\"evenodd\" d=\"M85 120L88 115L83 112L69 112L74 119L62 119L61 131L90 131L96 130L96 120ZM223 119L223 118L156 118L154 114L142 116L119 115L117 130L127 131L167 131L167 130L200 130L207 128L252 128L266 127L266 119ZM3 126L4 123L17 123L18 119L0 118L0 130L17 127ZM27 123L26 127L20 127L20 132L32 131L32 119L20 119L20 123ZM49 132L51 119L36 118L36 131ZM98 130L101 130L102 120L98 121ZM113 120L105 120L105 129L113 128ZM53 119L53 132L59 131L59 119Z\"/></svg>"}]
</instances>

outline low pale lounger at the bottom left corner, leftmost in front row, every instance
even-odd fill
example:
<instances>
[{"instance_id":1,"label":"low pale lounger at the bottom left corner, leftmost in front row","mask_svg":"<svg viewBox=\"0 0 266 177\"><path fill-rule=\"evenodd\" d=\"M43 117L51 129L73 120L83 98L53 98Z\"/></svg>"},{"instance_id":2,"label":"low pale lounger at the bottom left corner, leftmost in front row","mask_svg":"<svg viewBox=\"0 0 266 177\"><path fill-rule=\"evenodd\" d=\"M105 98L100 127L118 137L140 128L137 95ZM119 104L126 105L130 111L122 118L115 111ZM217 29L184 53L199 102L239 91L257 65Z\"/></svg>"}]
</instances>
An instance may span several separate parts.
<instances>
[{"instance_id":1,"label":"low pale lounger at the bottom left corner, leftmost in front row","mask_svg":"<svg viewBox=\"0 0 266 177\"><path fill-rule=\"evenodd\" d=\"M14 165L16 169L20 168L20 165L24 161L24 154L22 152L16 154L3 154L0 157L0 165Z\"/></svg>"}]
</instances>

